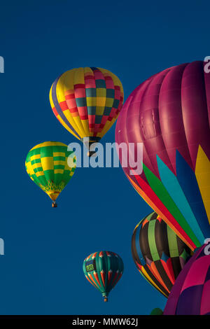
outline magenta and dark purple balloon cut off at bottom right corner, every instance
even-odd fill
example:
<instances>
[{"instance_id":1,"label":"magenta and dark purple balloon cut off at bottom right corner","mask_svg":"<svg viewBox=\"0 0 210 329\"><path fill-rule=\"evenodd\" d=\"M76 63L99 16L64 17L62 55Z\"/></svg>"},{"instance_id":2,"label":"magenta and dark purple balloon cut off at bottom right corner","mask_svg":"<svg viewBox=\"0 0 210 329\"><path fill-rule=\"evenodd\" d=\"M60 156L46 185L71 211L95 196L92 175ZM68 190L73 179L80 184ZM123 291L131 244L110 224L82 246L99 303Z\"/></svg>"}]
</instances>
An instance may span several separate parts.
<instances>
[{"instance_id":1,"label":"magenta and dark purple balloon cut off at bottom right corner","mask_svg":"<svg viewBox=\"0 0 210 329\"><path fill-rule=\"evenodd\" d=\"M210 315L209 246L198 248L179 274L164 315Z\"/></svg>"}]
</instances>

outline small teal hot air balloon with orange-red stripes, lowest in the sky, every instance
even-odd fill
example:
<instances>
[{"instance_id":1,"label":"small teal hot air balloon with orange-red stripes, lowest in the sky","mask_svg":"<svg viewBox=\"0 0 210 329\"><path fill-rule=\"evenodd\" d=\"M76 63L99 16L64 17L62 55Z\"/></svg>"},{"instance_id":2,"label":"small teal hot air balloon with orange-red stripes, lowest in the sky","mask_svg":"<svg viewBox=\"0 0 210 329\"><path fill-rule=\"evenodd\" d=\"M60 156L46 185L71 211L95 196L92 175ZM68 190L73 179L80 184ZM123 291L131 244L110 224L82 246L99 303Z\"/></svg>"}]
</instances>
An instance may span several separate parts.
<instances>
[{"instance_id":1,"label":"small teal hot air balloon with orange-red stripes, lowest in the sky","mask_svg":"<svg viewBox=\"0 0 210 329\"><path fill-rule=\"evenodd\" d=\"M86 279L102 293L104 302L123 275L123 269L122 258L112 251L91 253L83 262Z\"/></svg>"}]
</instances>

